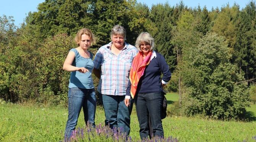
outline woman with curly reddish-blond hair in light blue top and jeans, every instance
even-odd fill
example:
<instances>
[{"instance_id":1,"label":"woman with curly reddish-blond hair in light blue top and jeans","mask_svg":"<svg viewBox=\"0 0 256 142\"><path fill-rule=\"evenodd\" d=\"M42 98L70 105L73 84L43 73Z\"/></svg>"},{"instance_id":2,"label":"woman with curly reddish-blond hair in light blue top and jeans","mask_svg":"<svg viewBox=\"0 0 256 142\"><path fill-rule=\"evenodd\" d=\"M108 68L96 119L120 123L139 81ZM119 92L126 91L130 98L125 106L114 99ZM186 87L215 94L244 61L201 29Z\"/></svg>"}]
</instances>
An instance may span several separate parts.
<instances>
[{"instance_id":1,"label":"woman with curly reddish-blond hair in light blue top and jeans","mask_svg":"<svg viewBox=\"0 0 256 142\"><path fill-rule=\"evenodd\" d=\"M77 48L71 49L63 64L63 69L71 71L68 85L68 121L65 129L65 139L72 136L77 125L80 111L83 107L84 121L95 126L96 96L92 81L92 53L88 51L95 43L94 35L88 28L78 31L75 37Z\"/></svg>"}]
</instances>

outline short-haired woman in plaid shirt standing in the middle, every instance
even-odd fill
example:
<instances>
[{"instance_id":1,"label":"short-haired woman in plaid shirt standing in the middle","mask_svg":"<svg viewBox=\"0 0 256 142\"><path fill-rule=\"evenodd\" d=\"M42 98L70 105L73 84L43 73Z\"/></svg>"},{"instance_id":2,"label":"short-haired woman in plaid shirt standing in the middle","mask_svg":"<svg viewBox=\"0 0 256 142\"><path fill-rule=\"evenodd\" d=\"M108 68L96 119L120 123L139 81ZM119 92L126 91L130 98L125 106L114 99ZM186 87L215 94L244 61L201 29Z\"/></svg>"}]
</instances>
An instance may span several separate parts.
<instances>
[{"instance_id":1,"label":"short-haired woman in plaid shirt standing in the middle","mask_svg":"<svg viewBox=\"0 0 256 142\"><path fill-rule=\"evenodd\" d=\"M115 25L110 33L112 41L98 50L94 58L93 73L98 77L97 91L102 94L105 110L105 125L120 128L130 133L131 109L125 106L125 94L136 47L125 43L126 30Z\"/></svg>"}]
</instances>

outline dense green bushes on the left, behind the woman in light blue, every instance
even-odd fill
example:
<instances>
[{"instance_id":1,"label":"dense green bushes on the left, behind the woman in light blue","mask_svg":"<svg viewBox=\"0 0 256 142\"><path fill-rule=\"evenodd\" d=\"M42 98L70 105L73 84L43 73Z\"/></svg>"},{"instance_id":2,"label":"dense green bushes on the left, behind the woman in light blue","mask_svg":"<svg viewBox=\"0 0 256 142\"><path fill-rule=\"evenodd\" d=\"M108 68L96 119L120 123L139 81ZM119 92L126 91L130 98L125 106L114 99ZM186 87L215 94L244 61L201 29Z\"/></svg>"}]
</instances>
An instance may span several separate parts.
<instances>
[{"instance_id":1,"label":"dense green bushes on the left, behind the woman in light blue","mask_svg":"<svg viewBox=\"0 0 256 142\"><path fill-rule=\"evenodd\" d=\"M44 43L17 36L16 43L5 45L0 55L0 98L66 106L70 72L62 66L69 50L76 47L73 37L66 34L49 37ZM94 55L97 52L90 50ZM98 79L93 79L97 87Z\"/></svg>"}]
</instances>

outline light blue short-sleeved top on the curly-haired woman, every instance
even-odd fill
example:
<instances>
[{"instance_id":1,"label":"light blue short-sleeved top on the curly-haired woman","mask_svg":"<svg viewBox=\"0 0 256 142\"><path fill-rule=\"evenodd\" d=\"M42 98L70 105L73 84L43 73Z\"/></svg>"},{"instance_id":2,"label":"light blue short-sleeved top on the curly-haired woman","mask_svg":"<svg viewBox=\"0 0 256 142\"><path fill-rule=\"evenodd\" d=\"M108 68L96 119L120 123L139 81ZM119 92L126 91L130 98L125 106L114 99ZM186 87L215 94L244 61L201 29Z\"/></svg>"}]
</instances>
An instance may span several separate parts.
<instances>
[{"instance_id":1,"label":"light blue short-sleeved top on the curly-haired woman","mask_svg":"<svg viewBox=\"0 0 256 142\"><path fill-rule=\"evenodd\" d=\"M75 52L75 58L73 60L72 66L84 67L89 70L86 73L80 73L79 71L71 71L70 80L68 88L94 88L92 81L92 69L94 68L94 63L92 62L92 53L90 53L90 58L82 57L78 50L71 49L70 52Z\"/></svg>"}]
</instances>

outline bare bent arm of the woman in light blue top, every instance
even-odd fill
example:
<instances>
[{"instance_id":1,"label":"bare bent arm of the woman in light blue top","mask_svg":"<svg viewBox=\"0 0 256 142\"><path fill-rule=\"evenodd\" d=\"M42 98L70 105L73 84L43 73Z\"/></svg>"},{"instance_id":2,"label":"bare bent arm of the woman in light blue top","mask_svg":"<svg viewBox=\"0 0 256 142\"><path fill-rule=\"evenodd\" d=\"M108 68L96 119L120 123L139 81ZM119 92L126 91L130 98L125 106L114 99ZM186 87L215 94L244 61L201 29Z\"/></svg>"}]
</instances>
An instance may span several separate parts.
<instances>
[{"instance_id":1,"label":"bare bent arm of the woman in light blue top","mask_svg":"<svg viewBox=\"0 0 256 142\"><path fill-rule=\"evenodd\" d=\"M63 69L66 71L79 71L81 73L86 73L86 71L89 71L88 69L84 68L84 67L76 67L76 66L72 66L73 60L75 58L75 53L72 51L70 51L68 53L68 56L66 57L65 62L63 63Z\"/></svg>"}]
</instances>

